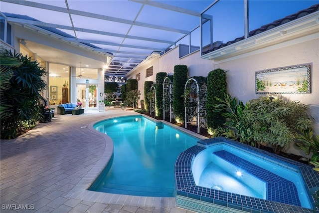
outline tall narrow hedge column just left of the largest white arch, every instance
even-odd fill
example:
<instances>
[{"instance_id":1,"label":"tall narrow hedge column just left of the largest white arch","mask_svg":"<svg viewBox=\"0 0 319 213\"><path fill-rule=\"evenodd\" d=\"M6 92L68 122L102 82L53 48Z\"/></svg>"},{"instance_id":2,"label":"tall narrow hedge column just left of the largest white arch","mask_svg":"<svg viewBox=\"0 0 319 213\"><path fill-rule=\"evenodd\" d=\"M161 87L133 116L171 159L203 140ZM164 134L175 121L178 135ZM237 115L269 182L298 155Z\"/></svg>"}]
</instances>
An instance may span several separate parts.
<instances>
[{"instance_id":1,"label":"tall narrow hedge column just left of the largest white arch","mask_svg":"<svg viewBox=\"0 0 319 213\"><path fill-rule=\"evenodd\" d=\"M187 81L187 66L175 65L173 75L173 111L175 119L184 122L184 86Z\"/></svg>"}]
</instances>

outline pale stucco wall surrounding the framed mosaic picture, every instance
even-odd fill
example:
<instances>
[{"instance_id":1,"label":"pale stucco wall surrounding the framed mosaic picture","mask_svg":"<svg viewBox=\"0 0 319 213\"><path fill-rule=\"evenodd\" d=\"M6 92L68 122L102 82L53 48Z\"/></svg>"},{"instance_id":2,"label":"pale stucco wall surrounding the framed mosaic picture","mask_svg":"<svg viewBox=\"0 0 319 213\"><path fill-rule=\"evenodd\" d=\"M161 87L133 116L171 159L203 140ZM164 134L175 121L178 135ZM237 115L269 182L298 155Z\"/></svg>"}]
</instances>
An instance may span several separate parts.
<instances>
[{"instance_id":1,"label":"pale stucco wall surrounding the framed mosaic picture","mask_svg":"<svg viewBox=\"0 0 319 213\"><path fill-rule=\"evenodd\" d=\"M278 94L278 96L308 105L309 112L316 122L315 131L319 134L319 38L219 63L216 64L216 68L229 70L228 92L246 102L260 96L255 93L256 71L300 64L311 64L312 93Z\"/></svg>"}]
</instances>

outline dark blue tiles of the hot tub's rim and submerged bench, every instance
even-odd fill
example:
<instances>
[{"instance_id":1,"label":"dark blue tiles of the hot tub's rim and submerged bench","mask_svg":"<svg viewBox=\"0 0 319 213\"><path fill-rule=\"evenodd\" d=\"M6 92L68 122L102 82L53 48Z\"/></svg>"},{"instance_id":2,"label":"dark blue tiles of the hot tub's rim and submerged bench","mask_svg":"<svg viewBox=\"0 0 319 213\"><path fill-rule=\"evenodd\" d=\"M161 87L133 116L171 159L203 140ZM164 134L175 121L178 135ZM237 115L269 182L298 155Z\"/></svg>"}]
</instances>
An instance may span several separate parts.
<instances>
[{"instance_id":1,"label":"dark blue tiles of the hot tub's rim and submerged bench","mask_svg":"<svg viewBox=\"0 0 319 213\"><path fill-rule=\"evenodd\" d=\"M210 146L213 144L218 143L229 143L232 146L236 146L242 150L247 150L248 152L255 153L255 155L261 156L261 158L266 158L269 161L272 161L276 164L280 165L287 165L287 168L296 168L297 170L301 171L301 174L305 180L306 189L311 189L313 187L319 186L319 175L317 172L312 170L310 166L304 165L300 162L295 162L290 159L283 158L281 156L268 153L264 150L259 150L255 147L248 146L246 144L241 144L229 139L225 139L222 137L219 138L211 138L207 140L202 140L198 142L198 147L200 148L191 148L186 150L185 152L181 153L181 158L178 157L178 160L175 164L175 172L177 175L175 177L178 177L175 179L177 187L177 195L178 191L185 192L183 195L187 193L187 197L189 197L191 194L198 193L200 196L201 202L207 202L210 203L211 199L213 200L213 203L216 205L221 206L227 206L229 203L233 205L242 206L242 210L246 212L258 212L258 213L312 213L311 209L306 209L302 207L295 206L296 204L294 202L297 202L297 199L294 198L294 196L279 196L280 200L284 200L285 202L292 202L293 205L290 204L284 204L274 201L268 201L263 199L255 199L252 197L247 196L241 196L237 194L227 193L223 191L217 191L212 190L208 188L201 188L199 187L197 190L195 190L195 187L198 187L195 185L193 181L193 177L191 174L191 162L195 155L197 155L199 150L204 150L205 146ZM234 159L232 159L234 160ZM180 162L181 161L181 162ZM178 168L179 167L179 168ZM188 169L187 169L188 168ZM254 166L249 165L249 168L251 170L254 170ZM294 169L293 169L294 170ZM269 183L276 183L278 182L280 185L272 185L270 186L270 189L274 191L274 193L278 193L280 191L286 190L287 192L291 192L292 194L296 195L297 193L294 192L294 187L290 184L290 182L286 179L282 179L280 177L275 177L270 173L265 173L263 170L257 169L256 175L258 177L263 177L266 179ZM187 180L187 181L184 181ZM181 185L181 183L186 182L187 184ZM183 186L183 188L181 188ZM205 196L204 196L205 195ZM271 194L273 195L273 194ZM186 198L186 196L185 196ZM277 198L276 198L277 199ZM299 200L299 198L298 198Z\"/></svg>"}]
</instances>

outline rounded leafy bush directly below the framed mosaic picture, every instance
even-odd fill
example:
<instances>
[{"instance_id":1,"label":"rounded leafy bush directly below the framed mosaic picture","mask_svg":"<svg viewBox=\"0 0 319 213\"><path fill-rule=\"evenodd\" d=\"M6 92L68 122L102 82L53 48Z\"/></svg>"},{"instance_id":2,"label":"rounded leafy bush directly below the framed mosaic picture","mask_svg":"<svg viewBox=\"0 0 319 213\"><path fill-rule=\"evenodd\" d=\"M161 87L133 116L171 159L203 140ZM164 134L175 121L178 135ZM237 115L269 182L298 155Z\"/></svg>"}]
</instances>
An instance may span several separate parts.
<instances>
[{"instance_id":1,"label":"rounded leafy bush directly below the framed mosaic picture","mask_svg":"<svg viewBox=\"0 0 319 213\"><path fill-rule=\"evenodd\" d=\"M295 101L261 96L246 103L243 120L251 127L252 140L266 143L275 153L295 140L298 131L312 127L307 107Z\"/></svg>"}]
</instances>

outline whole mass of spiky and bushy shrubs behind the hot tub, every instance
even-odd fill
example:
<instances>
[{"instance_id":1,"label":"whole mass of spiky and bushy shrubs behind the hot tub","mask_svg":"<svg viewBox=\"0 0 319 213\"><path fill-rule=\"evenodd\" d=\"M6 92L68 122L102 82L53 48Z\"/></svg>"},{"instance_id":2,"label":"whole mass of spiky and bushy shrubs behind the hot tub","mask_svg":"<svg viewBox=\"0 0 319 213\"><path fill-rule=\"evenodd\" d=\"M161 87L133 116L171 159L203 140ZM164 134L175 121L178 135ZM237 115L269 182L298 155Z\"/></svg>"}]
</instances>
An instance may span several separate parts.
<instances>
[{"instance_id":1,"label":"whole mass of spiky and bushy shrubs behind the hot tub","mask_svg":"<svg viewBox=\"0 0 319 213\"><path fill-rule=\"evenodd\" d=\"M304 104L279 98L271 102L269 97L265 96L252 99L246 105L242 102L237 104L237 99L232 99L230 95L217 100L220 104L214 105L214 111L227 111L222 113L226 122L224 128L218 129L218 135L255 146L265 143L272 147L275 153L280 153L285 146L293 142L299 131L304 133L299 135L299 140L314 140L313 135L307 132L313 121Z\"/></svg>"}]
</instances>

